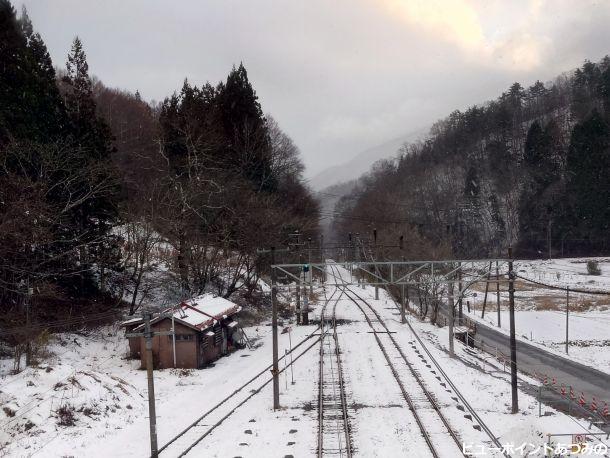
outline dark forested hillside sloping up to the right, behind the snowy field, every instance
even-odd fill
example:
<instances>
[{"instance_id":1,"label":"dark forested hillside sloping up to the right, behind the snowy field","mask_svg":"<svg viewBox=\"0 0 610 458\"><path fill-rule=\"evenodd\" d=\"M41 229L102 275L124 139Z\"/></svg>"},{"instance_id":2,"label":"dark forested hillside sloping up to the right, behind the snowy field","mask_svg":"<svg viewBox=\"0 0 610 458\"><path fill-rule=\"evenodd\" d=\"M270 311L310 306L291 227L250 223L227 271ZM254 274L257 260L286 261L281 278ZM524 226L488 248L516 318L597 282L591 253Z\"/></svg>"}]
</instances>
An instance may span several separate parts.
<instances>
[{"instance_id":1,"label":"dark forested hillside sloping up to the right, behind the snowy field","mask_svg":"<svg viewBox=\"0 0 610 458\"><path fill-rule=\"evenodd\" d=\"M514 83L376 164L335 207L335 233L403 234L414 257L607 253L609 122L608 57Z\"/></svg>"}]
</instances>

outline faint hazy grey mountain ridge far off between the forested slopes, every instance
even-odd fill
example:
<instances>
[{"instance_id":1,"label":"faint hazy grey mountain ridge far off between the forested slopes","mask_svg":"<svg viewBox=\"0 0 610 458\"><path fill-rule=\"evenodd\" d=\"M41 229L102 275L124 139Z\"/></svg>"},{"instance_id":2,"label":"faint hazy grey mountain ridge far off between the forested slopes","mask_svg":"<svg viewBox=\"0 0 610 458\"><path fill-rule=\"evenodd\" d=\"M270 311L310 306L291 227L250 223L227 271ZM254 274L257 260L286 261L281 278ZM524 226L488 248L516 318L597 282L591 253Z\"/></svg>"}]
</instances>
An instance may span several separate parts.
<instances>
[{"instance_id":1,"label":"faint hazy grey mountain ridge far off between the forested slopes","mask_svg":"<svg viewBox=\"0 0 610 458\"><path fill-rule=\"evenodd\" d=\"M376 161L396 156L403 144L423 139L428 130L429 128L419 129L366 149L343 164L334 165L321 171L309 181L309 185L313 190L319 191L334 184L359 178L362 174L368 172Z\"/></svg>"}]
</instances>

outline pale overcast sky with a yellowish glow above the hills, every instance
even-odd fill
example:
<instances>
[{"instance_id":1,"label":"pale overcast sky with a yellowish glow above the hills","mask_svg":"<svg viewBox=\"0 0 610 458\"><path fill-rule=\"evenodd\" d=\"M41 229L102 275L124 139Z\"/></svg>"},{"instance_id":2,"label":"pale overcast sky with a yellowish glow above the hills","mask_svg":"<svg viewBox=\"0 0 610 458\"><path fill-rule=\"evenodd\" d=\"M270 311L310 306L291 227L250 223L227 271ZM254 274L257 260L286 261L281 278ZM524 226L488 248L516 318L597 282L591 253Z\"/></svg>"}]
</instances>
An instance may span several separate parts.
<instances>
[{"instance_id":1,"label":"pale overcast sky with a yellowish glow above the hills","mask_svg":"<svg viewBox=\"0 0 610 458\"><path fill-rule=\"evenodd\" d=\"M56 65L162 100L244 62L307 175L610 53L607 0L28 0Z\"/></svg>"}]
</instances>

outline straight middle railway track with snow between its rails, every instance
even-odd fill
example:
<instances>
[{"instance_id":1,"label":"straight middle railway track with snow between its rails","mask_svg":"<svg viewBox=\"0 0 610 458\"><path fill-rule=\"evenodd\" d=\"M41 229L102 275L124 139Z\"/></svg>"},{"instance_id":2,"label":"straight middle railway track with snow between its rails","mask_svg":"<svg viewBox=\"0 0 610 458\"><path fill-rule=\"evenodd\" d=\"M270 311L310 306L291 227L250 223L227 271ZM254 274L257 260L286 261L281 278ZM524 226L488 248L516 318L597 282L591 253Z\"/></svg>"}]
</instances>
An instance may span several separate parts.
<instances>
[{"instance_id":1,"label":"straight middle railway track with snow between its rails","mask_svg":"<svg viewBox=\"0 0 610 458\"><path fill-rule=\"evenodd\" d=\"M337 289L333 291L333 295ZM320 315L323 331L320 338L318 380L318 457L352 456L351 428L343 378L341 349L337 335L336 308L343 292L335 300L331 319L325 320L326 305ZM331 296L332 297L332 296Z\"/></svg>"}]
</instances>

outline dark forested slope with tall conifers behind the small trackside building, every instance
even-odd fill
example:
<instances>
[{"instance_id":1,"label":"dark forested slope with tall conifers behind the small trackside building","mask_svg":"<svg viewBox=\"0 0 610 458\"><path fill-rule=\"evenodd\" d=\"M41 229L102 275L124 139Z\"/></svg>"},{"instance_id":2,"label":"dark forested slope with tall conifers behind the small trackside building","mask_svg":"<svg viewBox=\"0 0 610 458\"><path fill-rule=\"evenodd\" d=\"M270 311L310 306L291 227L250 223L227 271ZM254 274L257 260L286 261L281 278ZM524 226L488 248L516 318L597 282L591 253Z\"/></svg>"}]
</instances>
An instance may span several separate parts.
<instances>
[{"instance_id":1,"label":"dark forested slope with tall conifers behind the small trackside building","mask_svg":"<svg viewBox=\"0 0 610 458\"><path fill-rule=\"evenodd\" d=\"M8 0L0 62L0 310L10 325L26 304L38 320L122 301L133 313L159 253L179 295L229 297L256 284L257 248L295 229L317 235L298 148L263 115L242 64L151 106L92 78L78 37L56 72Z\"/></svg>"}]
</instances>

